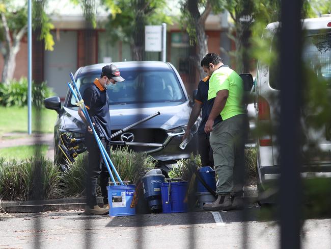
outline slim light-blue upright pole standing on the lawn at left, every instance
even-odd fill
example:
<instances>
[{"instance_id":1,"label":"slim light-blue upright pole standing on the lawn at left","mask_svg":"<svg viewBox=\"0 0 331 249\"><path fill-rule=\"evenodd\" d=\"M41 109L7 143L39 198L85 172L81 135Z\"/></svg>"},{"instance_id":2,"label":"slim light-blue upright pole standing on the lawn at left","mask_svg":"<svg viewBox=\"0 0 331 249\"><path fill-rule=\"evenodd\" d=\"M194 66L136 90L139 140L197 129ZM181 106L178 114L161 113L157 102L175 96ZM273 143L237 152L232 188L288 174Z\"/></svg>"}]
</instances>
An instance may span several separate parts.
<instances>
[{"instance_id":1,"label":"slim light-blue upright pole standing on the lawn at left","mask_svg":"<svg viewBox=\"0 0 331 249\"><path fill-rule=\"evenodd\" d=\"M27 1L27 134L31 135L32 99L32 0Z\"/></svg>"}]
</instances>

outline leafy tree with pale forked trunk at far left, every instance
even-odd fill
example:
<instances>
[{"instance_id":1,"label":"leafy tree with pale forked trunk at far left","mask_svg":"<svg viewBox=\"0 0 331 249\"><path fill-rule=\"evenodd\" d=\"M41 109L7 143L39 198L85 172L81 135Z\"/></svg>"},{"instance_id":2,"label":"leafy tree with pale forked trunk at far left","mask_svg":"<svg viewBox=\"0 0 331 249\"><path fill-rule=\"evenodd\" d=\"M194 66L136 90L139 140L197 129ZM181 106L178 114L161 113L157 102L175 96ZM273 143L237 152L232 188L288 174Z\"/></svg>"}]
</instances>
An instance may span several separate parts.
<instances>
[{"instance_id":1,"label":"leafy tree with pale forked trunk at far left","mask_svg":"<svg viewBox=\"0 0 331 249\"><path fill-rule=\"evenodd\" d=\"M45 49L51 51L54 41L50 30L53 29L53 26L43 9L38 9L41 2L33 1L34 16L41 16L37 21L34 19L33 26L37 27L37 23L40 23L41 33L39 37L45 40ZM26 4L14 5L12 1L4 0L0 3L0 18L0 52L4 57L2 82L8 82L13 79L20 41L27 32L27 6Z\"/></svg>"}]
</instances>

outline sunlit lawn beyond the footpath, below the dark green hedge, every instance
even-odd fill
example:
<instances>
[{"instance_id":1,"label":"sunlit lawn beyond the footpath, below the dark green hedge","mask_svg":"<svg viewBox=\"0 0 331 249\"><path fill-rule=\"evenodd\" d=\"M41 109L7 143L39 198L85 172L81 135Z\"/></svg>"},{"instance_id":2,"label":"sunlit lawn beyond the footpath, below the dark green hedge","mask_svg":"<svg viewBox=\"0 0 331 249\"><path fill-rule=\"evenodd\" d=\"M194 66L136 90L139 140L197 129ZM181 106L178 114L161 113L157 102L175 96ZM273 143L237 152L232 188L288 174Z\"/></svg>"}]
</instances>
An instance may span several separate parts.
<instances>
[{"instance_id":1,"label":"sunlit lawn beyond the footpath, below the dark green hedge","mask_svg":"<svg viewBox=\"0 0 331 249\"><path fill-rule=\"evenodd\" d=\"M52 133L57 112L41 109L40 128L36 127L36 110L32 110L32 132ZM0 137L4 133L27 133L27 107L0 107Z\"/></svg>"}]
</instances>

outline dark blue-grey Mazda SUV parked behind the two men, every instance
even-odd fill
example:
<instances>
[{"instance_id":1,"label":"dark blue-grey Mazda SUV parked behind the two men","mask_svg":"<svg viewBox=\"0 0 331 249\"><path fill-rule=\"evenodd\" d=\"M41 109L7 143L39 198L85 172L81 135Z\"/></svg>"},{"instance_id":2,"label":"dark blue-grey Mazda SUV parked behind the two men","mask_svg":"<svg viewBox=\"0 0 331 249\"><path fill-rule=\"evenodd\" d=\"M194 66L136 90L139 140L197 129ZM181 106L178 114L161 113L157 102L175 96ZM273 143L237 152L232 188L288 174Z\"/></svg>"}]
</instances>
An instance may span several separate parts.
<instances>
[{"instance_id":1,"label":"dark blue-grey Mazda SUV parked behind the two men","mask_svg":"<svg viewBox=\"0 0 331 249\"><path fill-rule=\"evenodd\" d=\"M168 167L178 159L188 158L192 152L197 153L196 133L184 150L179 148L191 111L192 99L190 102L175 67L171 63L159 61L113 64L120 69L125 81L107 90L112 134L156 112L160 112L160 115L112 140L164 144L163 147L130 146L130 148L134 151L146 151L161 165ZM82 95L87 85L100 77L104 65L80 67L75 72L74 77ZM64 83L63 87L67 85ZM86 126L78 116L78 108L70 90L67 91L62 108L59 97L46 98L44 104L46 108L56 110L59 114L54 127L55 160L66 164L58 146L61 142L60 135L66 133L71 138L83 138ZM195 123L192 131L197 131L199 123L200 119Z\"/></svg>"}]
</instances>

